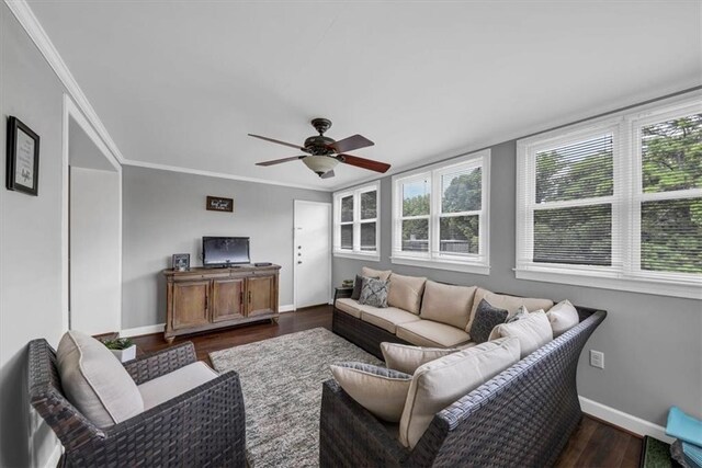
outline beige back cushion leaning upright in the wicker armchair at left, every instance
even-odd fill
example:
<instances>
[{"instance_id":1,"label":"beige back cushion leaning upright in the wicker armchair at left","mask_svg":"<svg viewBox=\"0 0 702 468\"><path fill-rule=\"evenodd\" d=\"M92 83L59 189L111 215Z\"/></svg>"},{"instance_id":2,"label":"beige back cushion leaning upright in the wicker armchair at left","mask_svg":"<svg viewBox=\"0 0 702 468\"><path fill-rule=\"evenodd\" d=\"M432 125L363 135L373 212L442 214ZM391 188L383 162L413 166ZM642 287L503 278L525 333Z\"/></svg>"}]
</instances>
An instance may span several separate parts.
<instances>
[{"instance_id":1,"label":"beige back cushion leaning upright in the wicker armchair at left","mask_svg":"<svg viewBox=\"0 0 702 468\"><path fill-rule=\"evenodd\" d=\"M107 427L144 411L136 384L104 344L68 331L56 351L58 374L68 400L99 427Z\"/></svg>"}]
</instances>

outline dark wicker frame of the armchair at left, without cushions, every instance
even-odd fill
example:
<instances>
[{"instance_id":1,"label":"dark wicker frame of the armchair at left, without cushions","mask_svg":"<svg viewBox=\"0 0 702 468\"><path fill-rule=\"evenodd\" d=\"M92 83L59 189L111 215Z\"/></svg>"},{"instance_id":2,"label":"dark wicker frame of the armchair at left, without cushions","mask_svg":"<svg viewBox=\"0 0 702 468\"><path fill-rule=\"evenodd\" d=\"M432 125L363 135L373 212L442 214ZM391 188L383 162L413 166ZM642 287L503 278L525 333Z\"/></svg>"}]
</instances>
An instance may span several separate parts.
<instances>
[{"instance_id":1,"label":"dark wicker frame of the armchair at left, without cushions","mask_svg":"<svg viewBox=\"0 0 702 468\"><path fill-rule=\"evenodd\" d=\"M244 397L236 373L100 429L64 396L56 352L46 340L29 347L30 401L64 445L64 466L245 466ZM125 368L139 385L195 361L193 344L183 343Z\"/></svg>"}]
</instances>

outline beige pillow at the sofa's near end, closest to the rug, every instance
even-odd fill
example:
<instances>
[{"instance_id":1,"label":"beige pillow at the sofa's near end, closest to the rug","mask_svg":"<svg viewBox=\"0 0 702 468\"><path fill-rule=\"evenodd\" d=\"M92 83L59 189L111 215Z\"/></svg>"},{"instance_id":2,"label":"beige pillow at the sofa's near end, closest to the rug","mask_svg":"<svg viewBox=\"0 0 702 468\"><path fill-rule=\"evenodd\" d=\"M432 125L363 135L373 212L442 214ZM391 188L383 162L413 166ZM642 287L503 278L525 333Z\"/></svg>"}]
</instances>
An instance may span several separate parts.
<instances>
[{"instance_id":1,"label":"beige pillow at the sofa's near end, closest to the rug","mask_svg":"<svg viewBox=\"0 0 702 468\"><path fill-rule=\"evenodd\" d=\"M341 388L375 416L399 421L412 376L364 363L332 364Z\"/></svg>"}]
</instances>

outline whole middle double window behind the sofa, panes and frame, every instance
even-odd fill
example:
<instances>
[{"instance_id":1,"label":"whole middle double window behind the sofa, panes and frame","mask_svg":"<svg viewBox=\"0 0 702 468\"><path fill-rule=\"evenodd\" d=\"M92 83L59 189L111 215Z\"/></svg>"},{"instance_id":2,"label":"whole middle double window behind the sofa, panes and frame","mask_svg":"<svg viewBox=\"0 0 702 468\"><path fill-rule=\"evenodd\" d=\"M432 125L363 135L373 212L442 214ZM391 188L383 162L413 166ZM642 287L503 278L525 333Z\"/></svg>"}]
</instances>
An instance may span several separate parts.
<instances>
[{"instance_id":1,"label":"whole middle double window behind the sofa, panes and frame","mask_svg":"<svg viewBox=\"0 0 702 468\"><path fill-rule=\"evenodd\" d=\"M490 151L393 178L393 263L489 273Z\"/></svg>"}]
</instances>

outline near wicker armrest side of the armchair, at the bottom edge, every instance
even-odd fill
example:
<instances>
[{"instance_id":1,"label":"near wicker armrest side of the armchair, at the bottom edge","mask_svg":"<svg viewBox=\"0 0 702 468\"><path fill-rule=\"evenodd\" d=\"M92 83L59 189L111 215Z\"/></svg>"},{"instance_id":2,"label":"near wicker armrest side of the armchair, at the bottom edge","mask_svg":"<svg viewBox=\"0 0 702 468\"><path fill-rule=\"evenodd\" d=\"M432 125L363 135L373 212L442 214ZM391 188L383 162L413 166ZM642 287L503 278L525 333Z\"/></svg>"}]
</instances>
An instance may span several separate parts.
<instances>
[{"instance_id":1,"label":"near wicker armrest side of the armchair, at the bottom edge","mask_svg":"<svg viewBox=\"0 0 702 468\"><path fill-rule=\"evenodd\" d=\"M244 396L229 372L77 442L70 466L238 466L246 464Z\"/></svg>"}]
</instances>

